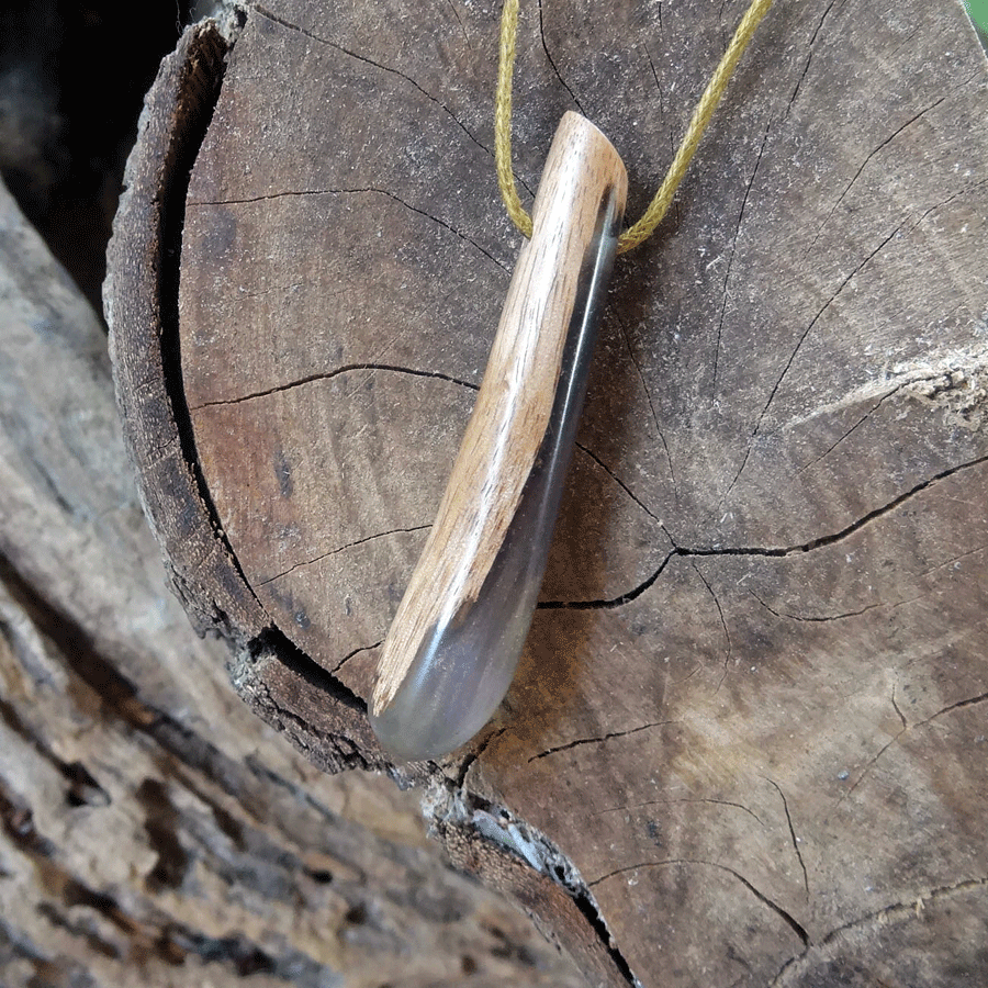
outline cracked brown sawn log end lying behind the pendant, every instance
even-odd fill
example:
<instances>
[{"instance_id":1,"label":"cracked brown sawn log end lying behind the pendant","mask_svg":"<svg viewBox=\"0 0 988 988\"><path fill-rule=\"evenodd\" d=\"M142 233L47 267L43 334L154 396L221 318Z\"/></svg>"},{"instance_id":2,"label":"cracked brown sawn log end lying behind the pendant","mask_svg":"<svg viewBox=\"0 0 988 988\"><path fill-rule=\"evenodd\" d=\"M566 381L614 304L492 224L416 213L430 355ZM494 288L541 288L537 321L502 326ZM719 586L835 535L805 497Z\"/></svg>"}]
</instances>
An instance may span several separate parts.
<instances>
[{"instance_id":1,"label":"cracked brown sawn log end lying behind the pendant","mask_svg":"<svg viewBox=\"0 0 988 988\"><path fill-rule=\"evenodd\" d=\"M579 109L633 218L745 5L523 9L521 184ZM386 765L362 701L519 246L492 156L498 12L250 7L188 187L165 186L175 278L122 273L154 189L111 255L176 582L324 767ZM154 105L135 181L170 139ZM507 700L442 763L390 766L594 984L988 980L986 117L961 3L776 4L672 214L619 261ZM142 291L164 314L128 321ZM154 318L180 356L164 388L134 357ZM142 418L149 393L173 423ZM162 491L169 429L193 479Z\"/></svg>"}]
</instances>

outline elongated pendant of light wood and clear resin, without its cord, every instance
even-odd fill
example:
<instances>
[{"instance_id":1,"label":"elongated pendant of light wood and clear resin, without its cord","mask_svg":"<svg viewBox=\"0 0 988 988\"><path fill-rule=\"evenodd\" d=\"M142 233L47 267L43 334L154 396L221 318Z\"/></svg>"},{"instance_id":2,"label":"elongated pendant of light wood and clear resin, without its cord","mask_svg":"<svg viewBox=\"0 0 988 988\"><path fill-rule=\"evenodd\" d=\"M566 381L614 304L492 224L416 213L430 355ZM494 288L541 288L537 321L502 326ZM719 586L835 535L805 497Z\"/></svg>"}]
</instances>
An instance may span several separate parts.
<instances>
[{"instance_id":1,"label":"elongated pendant of light wood and clear resin, without its cord","mask_svg":"<svg viewBox=\"0 0 988 988\"><path fill-rule=\"evenodd\" d=\"M628 179L577 113L555 132L473 415L381 654L371 722L403 760L473 737L538 599Z\"/></svg>"}]
</instances>

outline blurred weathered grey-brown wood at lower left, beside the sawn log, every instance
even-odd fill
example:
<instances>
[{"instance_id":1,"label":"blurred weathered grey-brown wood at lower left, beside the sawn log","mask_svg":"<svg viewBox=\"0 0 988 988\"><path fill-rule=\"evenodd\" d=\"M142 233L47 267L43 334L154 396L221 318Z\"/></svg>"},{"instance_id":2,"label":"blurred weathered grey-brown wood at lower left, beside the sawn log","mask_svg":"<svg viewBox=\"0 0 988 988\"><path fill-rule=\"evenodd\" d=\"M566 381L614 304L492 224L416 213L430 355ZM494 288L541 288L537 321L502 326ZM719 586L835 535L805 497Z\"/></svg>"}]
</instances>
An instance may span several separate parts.
<instances>
[{"instance_id":1,"label":"blurred weathered grey-brown wood at lower left, beside the sawn log","mask_svg":"<svg viewBox=\"0 0 988 988\"><path fill-rule=\"evenodd\" d=\"M409 794L234 695L165 587L105 334L2 186L0 353L0 984L580 984Z\"/></svg>"}]
</instances>

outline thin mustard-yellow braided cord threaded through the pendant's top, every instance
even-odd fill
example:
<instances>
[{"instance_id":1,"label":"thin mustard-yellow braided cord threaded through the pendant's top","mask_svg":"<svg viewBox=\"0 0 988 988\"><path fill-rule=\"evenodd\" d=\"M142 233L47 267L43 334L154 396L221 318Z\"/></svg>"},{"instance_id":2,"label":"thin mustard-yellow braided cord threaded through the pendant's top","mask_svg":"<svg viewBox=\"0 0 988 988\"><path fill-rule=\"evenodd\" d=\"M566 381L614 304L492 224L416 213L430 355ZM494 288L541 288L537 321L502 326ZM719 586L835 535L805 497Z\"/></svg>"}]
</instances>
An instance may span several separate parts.
<instances>
[{"instance_id":1,"label":"thin mustard-yellow braided cord threaded through the pendant's top","mask_svg":"<svg viewBox=\"0 0 988 988\"><path fill-rule=\"evenodd\" d=\"M710 117L727 89L734 67L744 54L748 43L751 41L755 29L762 18L768 12L772 0L752 0L750 7L738 24L734 36L720 59L720 64L710 77L704 94L700 97L689 126L683 135L678 150L669 166L669 171L659 187L654 199L641 218L626 229L618 240L618 254L624 254L632 247L647 240L662 222L673 195L686 169L696 154L696 149L704 136ZM519 231L526 236L531 236L531 216L521 205L518 198L518 189L515 186L515 176L512 171L512 75L515 67L515 38L518 34L518 0L504 0L504 10L501 15L501 57L497 66L497 90L494 96L494 158L497 164L497 184L501 187L501 198L507 209L508 216Z\"/></svg>"}]
</instances>

